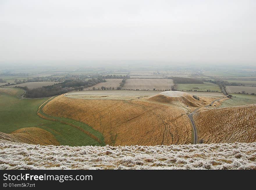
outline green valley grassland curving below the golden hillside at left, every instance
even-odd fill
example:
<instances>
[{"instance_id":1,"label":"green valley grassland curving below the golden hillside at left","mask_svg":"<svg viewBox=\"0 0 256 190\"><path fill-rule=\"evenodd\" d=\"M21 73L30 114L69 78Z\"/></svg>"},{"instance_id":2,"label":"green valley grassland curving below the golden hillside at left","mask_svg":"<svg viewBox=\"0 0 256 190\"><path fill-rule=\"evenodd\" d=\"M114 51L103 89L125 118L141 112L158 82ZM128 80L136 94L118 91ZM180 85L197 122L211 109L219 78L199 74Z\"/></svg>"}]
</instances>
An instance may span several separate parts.
<instances>
[{"instance_id":1,"label":"green valley grassland curving below the golden hillside at left","mask_svg":"<svg viewBox=\"0 0 256 190\"><path fill-rule=\"evenodd\" d=\"M24 127L40 127L52 133L61 145L85 146L85 145L104 145L104 137L92 127L66 118L57 118L59 121L74 124L80 128L97 136L102 143L97 142L86 133L68 124L59 121L45 120L36 113L38 107L47 98L41 99L20 99L23 90L18 88L0 88L0 131L11 133ZM40 113L42 113L40 111ZM47 116L48 118L50 116Z\"/></svg>"}]
</instances>

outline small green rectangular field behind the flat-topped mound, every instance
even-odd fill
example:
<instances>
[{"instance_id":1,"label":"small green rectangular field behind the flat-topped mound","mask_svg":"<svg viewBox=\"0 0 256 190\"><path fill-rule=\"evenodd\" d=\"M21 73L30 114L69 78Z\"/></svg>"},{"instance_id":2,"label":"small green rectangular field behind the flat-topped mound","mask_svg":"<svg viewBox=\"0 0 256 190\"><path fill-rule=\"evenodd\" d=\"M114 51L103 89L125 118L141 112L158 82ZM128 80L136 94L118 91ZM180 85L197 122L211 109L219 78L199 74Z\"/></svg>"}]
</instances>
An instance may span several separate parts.
<instances>
[{"instance_id":1,"label":"small green rectangular field behind the flat-topped mound","mask_svg":"<svg viewBox=\"0 0 256 190\"><path fill-rule=\"evenodd\" d=\"M206 83L206 84L205 84ZM205 82L204 84L177 84L179 91L207 91L210 89L211 91L221 92L221 89L218 85Z\"/></svg>"}]
</instances>

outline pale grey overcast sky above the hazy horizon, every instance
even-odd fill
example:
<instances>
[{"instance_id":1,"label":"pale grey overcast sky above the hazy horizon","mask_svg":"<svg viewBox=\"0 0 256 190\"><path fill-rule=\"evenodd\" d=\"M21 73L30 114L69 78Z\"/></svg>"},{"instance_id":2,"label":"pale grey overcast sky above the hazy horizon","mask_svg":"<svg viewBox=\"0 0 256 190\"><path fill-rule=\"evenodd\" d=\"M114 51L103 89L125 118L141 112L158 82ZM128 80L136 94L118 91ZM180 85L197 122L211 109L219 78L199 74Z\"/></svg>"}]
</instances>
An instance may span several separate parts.
<instances>
[{"instance_id":1,"label":"pale grey overcast sky above the hazy horizon","mask_svg":"<svg viewBox=\"0 0 256 190\"><path fill-rule=\"evenodd\" d=\"M0 0L0 64L256 64L255 10L255 0Z\"/></svg>"}]
</instances>

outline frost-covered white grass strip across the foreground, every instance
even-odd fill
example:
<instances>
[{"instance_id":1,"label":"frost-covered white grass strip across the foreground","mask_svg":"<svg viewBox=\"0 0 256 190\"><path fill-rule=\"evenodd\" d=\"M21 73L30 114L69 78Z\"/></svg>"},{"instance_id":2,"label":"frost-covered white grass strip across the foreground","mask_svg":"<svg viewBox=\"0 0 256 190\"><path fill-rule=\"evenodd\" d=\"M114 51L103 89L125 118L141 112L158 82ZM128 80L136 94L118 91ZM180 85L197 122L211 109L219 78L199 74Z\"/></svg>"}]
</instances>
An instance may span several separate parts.
<instances>
[{"instance_id":1,"label":"frost-covered white grass strip across the foreground","mask_svg":"<svg viewBox=\"0 0 256 190\"><path fill-rule=\"evenodd\" d=\"M0 169L256 169L256 142L40 146L0 140Z\"/></svg>"}]
</instances>

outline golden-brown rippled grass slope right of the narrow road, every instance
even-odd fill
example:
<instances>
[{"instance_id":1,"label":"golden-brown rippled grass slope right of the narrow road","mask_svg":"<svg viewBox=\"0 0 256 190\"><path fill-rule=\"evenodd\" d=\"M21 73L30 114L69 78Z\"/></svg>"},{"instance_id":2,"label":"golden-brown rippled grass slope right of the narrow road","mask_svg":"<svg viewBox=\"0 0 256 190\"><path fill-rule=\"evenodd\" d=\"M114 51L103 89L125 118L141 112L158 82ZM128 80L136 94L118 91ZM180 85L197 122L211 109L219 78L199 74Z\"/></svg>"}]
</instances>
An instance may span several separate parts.
<instances>
[{"instance_id":1,"label":"golden-brown rippled grass slope right of the narrow road","mask_svg":"<svg viewBox=\"0 0 256 190\"><path fill-rule=\"evenodd\" d=\"M256 141L256 104L200 110L193 117L198 140L203 139L204 143Z\"/></svg>"}]
</instances>

